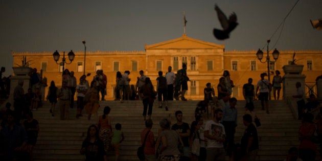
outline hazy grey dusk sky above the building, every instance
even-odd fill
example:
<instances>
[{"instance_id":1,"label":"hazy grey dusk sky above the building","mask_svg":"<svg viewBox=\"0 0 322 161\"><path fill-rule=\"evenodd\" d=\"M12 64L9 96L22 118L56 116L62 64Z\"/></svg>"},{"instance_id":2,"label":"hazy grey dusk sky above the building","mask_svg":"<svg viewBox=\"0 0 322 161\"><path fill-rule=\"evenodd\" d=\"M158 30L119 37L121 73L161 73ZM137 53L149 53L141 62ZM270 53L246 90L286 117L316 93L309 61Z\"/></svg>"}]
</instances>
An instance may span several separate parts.
<instances>
[{"instance_id":1,"label":"hazy grey dusk sky above the building","mask_svg":"<svg viewBox=\"0 0 322 161\"><path fill-rule=\"evenodd\" d=\"M226 50L263 48L297 0L0 0L0 66L11 74L14 52L143 51L183 34L183 11L188 37L225 44ZM229 39L212 34L220 28L214 4L228 16L236 12L239 26ZM310 19L322 18L322 0L302 0L271 38L278 50L322 50L322 31ZM255 54L255 53L254 53ZM77 55L76 55L77 56ZM28 59L28 58L27 58ZM54 61L54 60L53 60Z\"/></svg>"}]
</instances>

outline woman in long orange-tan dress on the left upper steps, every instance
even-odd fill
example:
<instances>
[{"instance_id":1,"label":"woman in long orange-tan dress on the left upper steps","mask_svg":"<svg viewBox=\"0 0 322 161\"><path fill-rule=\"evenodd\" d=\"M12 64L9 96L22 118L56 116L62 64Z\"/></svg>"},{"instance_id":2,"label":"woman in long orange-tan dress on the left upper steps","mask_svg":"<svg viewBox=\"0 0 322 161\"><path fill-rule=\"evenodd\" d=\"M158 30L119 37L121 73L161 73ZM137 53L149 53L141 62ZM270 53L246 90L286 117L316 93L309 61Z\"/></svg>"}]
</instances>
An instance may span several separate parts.
<instances>
[{"instance_id":1,"label":"woman in long orange-tan dress on the left upper steps","mask_svg":"<svg viewBox=\"0 0 322 161\"><path fill-rule=\"evenodd\" d=\"M97 110L100 107L95 81L90 83L90 88L87 90L86 95L85 97L88 98L88 101L85 105L85 110L87 113L87 119L90 120L91 114L97 114Z\"/></svg>"}]
</instances>

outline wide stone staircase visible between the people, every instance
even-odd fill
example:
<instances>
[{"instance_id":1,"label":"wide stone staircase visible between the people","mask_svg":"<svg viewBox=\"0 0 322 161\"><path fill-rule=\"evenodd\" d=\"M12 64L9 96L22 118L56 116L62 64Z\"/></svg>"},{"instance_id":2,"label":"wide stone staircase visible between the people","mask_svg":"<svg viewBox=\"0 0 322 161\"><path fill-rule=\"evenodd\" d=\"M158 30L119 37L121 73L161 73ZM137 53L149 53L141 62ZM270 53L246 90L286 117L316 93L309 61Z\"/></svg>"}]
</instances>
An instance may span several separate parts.
<instances>
[{"instance_id":1,"label":"wide stone staircase visible between the people","mask_svg":"<svg viewBox=\"0 0 322 161\"><path fill-rule=\"evenodd\" d=\"M191 124L194 120L194 109L198 101L173 101L169 102L169 111L157 108L154 104L152 131L157 135L158 122L162 118L169 118L172 124L176 122L174 113L183 111L183 121ZM238 101L238 126L235 140L240 143L244 132L242 116L245 112L245 101ZM141 101L100 101L101 107L98 116L103 113L104 106L110 106L109 117L112 118L112 127L116 123L122 124L125 135L120 146L120 160L138 160L136 149L140 146L140 132L145 128L142 117L143 104ZM270 114L260 110L260 102L255 102L255 111L261 118L262 126L258 128L260 150L259 160L283 160L292 146L298 146L298 128L300 121L294 119L286 101L270 101ZM79 151L90 124L97 124L96 116L90 121L84 117L76 119L76 108L70 109L70 120L59 120L59 105L56 105L56 115L49 113L50 104L44 102L42 108L34 111L34 119L39 121L40 131L36 147L34 148L35 160L84 160L85 156ZM108 153L108 160L114 160L112 152Z\"/></svg>"}]
</instances>

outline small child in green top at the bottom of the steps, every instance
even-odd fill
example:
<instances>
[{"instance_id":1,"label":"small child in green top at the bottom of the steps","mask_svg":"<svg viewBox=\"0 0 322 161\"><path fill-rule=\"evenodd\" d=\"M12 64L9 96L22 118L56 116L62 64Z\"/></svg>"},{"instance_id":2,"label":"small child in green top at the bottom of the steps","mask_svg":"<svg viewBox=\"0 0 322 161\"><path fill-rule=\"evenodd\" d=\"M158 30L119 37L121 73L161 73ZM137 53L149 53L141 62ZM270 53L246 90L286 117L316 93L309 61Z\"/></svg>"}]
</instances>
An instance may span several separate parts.
<instances>
[{"instance_id":1,"label":"small child in green top at the bottom of the steps","mask_svg":"<svg viewBox=\"0 0 322 161\"><path fill-rule=\"evenodd\" d=\"M113 136L112 136L112 147L115 149L115 160L119 160L120 156L120 143L124 140L124 135L123 132L121 131L122 125L121 124L116 124L115 125L116 130L113 131Z\"/></svg>"}]
</instances>

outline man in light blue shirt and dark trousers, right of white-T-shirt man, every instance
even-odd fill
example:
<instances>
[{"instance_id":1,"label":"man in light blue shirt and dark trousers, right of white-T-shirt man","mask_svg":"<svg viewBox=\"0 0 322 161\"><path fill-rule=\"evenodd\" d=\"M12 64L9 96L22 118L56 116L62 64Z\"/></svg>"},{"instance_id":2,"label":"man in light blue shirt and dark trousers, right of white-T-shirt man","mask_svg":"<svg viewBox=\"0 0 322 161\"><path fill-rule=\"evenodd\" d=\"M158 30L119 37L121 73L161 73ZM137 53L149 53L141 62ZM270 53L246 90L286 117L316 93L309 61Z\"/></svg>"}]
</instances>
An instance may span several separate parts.
<instances>
[{"instance_id":1,"label":"man in light blue shirt and dark trousers, right of white-T-shirt man","mask_svg":"<svg viewBox=\"0 0 322 161\"><path fill-rule=\"evenodd\" d=\"M235 97L229 99L229 105L222 108L222 124L225 127L226 140L224 143L227 149L227 155L232 157L232 152L235 144L235 132L237 126L237 99ZM228 144L228 145L227 145Z\"/></svg>"}]
</instances>

